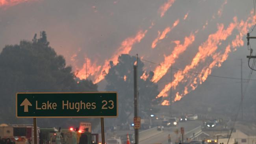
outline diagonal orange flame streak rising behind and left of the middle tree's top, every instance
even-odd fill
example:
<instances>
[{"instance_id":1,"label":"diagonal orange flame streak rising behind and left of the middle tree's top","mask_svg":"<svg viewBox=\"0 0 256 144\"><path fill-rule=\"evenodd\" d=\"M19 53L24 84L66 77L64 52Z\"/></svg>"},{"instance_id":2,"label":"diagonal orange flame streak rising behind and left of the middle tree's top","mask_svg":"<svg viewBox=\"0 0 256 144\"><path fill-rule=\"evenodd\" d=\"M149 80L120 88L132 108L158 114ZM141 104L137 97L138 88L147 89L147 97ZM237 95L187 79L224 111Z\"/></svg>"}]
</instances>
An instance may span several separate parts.
<instances>
[{"instance_id":1,"label":"diagonal orange flame streak rising behind and left of the middle tree's top","mask_svg":"<svg viewBox=\"0 0 256 144\"><path fill-rule=\"evenodd\" d=\"M135 43L138 43L145 37L145 34L147 33L147 30L145 31L139 31L135 37L129 37L125 39L121 46L118 48L118 50L115 52L115 54L108 60L105 61L104 65L100 68L100 74L96 75L96 79L94 83L100 82L102 79L105 78L106 74L109 72L109 61L113 61L113 65L117 65L118 63L118 57L121 54L129 54L130 50L132 50L132 46Z\"/></svg>"}]
</instances>

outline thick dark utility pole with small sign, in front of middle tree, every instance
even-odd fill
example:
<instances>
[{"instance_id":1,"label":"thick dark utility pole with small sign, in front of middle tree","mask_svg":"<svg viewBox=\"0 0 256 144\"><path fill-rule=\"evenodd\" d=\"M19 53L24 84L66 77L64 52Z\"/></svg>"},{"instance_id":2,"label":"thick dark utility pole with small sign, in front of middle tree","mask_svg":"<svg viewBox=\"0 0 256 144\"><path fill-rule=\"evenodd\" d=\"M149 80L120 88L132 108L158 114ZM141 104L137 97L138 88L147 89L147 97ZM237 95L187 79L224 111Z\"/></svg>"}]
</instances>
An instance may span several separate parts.
<instances>
[{"instance_id":1,"label":"thick dark utility pole with small sign, in front of middle tree","mask_svg":"<svg viewBox=\"0 0 256 144\"><path fill-rule=\"evenodd\" d=\"M138 54L137 54L137 59L136 59L136 65L134 65L134 118L138 117L138 112L139 112L137 68L138 68ZM134 135L135 135L135 144L139 144L139 129L134 129Z\"/></svg>"}]
</instances>

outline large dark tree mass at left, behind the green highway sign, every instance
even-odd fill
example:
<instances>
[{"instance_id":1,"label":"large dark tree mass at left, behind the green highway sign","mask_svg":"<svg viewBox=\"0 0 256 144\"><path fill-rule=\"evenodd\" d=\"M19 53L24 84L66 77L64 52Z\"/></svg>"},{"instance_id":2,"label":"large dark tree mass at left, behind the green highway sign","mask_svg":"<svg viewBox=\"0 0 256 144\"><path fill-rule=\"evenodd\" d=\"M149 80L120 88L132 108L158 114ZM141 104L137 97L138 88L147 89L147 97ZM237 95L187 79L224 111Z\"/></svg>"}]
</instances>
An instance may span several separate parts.
<instances>
[{"instance_id":1,"label":"large dark tree mass at left, behind the green highway sign","mask_svg":"<svg viewBox=\"0 0 256 144\"><path fill-rule=\"evenodd\" d=\"M79 83L77 83L79 81ZM30 119L15 118L17 92L97 91L89 80L78 80L62 55L49 46L45 31L32 42L7 45L0 53L0 123L27 123ZM81 119L40 119L39 126L78 126ZM90 119L88 119L90 120ZM93 124L98 121L92 120Z\"/></svg>"}]
</instances>

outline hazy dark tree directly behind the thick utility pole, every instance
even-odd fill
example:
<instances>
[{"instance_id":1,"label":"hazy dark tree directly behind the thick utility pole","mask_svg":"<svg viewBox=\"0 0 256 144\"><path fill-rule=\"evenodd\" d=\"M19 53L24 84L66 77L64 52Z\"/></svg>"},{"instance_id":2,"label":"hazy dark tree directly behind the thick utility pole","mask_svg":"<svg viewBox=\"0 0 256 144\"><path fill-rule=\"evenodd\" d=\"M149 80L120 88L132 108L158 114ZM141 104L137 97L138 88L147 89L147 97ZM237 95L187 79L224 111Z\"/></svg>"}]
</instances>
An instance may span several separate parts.
<instances>
[{"instance_id":1,"label":"hazy dark tree directly behind the thick utility pole","mask_svg":"<svg viewBox=\"0 0 256 144\"><path fill-rule=\"evenodd\" d=\"M128 117L134 114L134 70L133 65L136 57L122 54L118 58L119 63L115 66L111 65L106 75L107 91L117 91L119 96L119 122L128 122ZM150 72L148 79L140 79L144 70L144 64L138 61L138 89L139 89L139 115L148 118L150 114L155 113L156 109L152 108L153 104L159 103L156 99L158 95L158 85L152 83L153 72Z\"/></svg>"}]
</instances>

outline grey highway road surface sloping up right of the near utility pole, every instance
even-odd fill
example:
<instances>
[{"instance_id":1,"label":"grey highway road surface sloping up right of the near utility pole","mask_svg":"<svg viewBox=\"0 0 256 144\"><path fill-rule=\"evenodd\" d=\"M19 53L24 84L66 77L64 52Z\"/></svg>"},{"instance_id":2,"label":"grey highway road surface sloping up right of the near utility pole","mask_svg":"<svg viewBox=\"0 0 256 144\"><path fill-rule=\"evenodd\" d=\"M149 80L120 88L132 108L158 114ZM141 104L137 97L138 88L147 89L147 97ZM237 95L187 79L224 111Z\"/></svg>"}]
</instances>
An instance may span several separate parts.
<instances>
[{"instance_id":1,"label":"grey highway road surface sloping up right of the near utility pole","mask_svg":"<svg viewBox=\"0 0 256 144\"><path fill-rule=\"evenodd\" d=\"M198 126L202 125L202 121L189 121L189 122L180 122L178 124L178 126L176 127L171 127L171 128L167 128L163 131L163 133L160 133L158 135L155 135L153 137L147 138L145 140L141 140L139 143L140 144L168 144L168 134L171 134L171 140L174 144L174 142L176 141L176 133L174 133L175 129L179 129L180 131L180 127L184 127L185 129L185 133L187 131L190 131ZM179 137L180 134L178 134ZM184 141L186 140L186 138L184 137Z\"/></svg>"}]
</instances>

